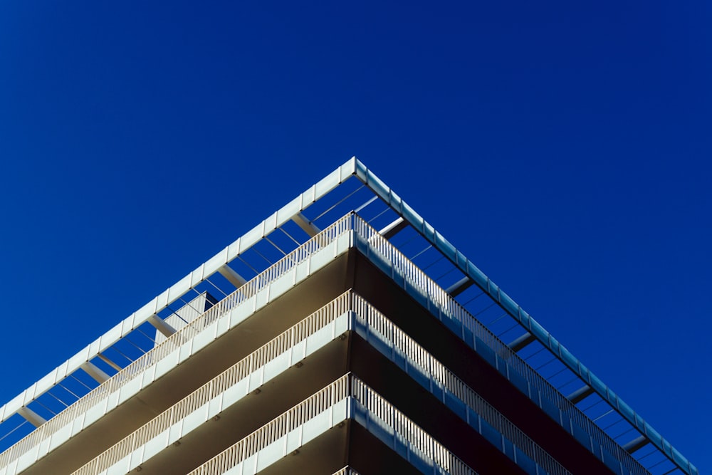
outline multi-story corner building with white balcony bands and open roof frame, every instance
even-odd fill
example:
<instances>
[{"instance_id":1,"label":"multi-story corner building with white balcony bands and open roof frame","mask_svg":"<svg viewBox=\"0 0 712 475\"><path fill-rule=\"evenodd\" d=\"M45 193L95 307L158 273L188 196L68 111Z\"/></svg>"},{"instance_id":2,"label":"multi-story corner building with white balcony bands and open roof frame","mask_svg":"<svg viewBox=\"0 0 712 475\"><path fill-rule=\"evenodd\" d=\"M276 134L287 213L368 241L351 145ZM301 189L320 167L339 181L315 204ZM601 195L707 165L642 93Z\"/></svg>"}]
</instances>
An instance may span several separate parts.
<instances>
[{"instance_id":1,"label":"multi-story corner building with white balcony bands and open roof frame","mask_svg":"<svg viewBox=\"0 0 712 475\"><path fill-rule=\"evenodd\" d=\"M0 419L0 475L698 475L355 158Z\"/></svg>"}]
</instances>

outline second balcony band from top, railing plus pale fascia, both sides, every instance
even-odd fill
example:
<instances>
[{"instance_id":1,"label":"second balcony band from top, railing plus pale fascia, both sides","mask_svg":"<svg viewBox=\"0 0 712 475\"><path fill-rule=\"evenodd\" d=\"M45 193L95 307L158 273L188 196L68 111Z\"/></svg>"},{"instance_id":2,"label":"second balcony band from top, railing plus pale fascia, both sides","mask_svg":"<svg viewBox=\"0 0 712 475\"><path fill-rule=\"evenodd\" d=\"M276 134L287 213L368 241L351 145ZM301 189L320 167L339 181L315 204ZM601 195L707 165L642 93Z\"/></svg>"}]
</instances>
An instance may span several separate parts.
<instances>
[{"instance_id":1,"label":"second balcony band from top, railing plus pale fascia, both sides","mask_svg":"<svg viewBox=\"0 0 712 475\"><path fill-rule=\"evenodd\" d=\"M560 464L438 360L352 291L258 348L125 437L73 475L130 471L347 330L355 330L528 473L568 475ZM193 420L194 419L194 420ZM188 422L186 422L188 421ZM508 446L506 441L511 444ZM143 447L140 459L132 454ZM514 449L512 449L512 447Z\"/></svg>"}]
</instances>

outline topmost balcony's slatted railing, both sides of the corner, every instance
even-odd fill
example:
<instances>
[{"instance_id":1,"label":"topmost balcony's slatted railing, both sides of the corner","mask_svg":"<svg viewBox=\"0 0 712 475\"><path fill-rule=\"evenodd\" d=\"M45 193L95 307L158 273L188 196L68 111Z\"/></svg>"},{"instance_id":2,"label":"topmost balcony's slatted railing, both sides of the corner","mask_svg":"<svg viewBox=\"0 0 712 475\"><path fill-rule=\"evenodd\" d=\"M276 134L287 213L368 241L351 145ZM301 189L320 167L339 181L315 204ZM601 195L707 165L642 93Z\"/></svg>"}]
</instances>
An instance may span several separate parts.
<instances>
[{"instance_id":1,"label":"topmost balcony's slatted railing, both sides of the corner","mask_svg":"<svg viewBox=\"0 0 712 475\"><path fill-rule=\"evenodd\" d=\"M66 428L77 417L88 412L88 410L105 400L106 397L135 380L145 370L155 367L169 355L173 355L177 348L191 341L221 316L250 301L254 310L257 306L258 296L263 300L263 303L268 302L270 298L274 297L269 295L270 286L290 273L293 276L294 281L291 282L291 285L293 285L296 280L296 267L301 266L303 263L307 263L307 266L309 266L310 258L319 254L320 251L324 251L337 239L344 238L350 234L353 235L348 238L353 239L350 245L357 246L372 261L389 272L407 291L420 296L422 303L431 313L440 318L478 353L485 356L491 354L489 361L499 370L506 372L509 379L520 390L548 412L562 427L579 439L581 437L579 432L584 431L587 437L585 445L596 456L604 460L609 466L611 466L610 457L613 456L618 466L612 468L622 474L643 475L648 473L619 444L614 442L600 427L583 414L575 404L567 400L564 395L551 386L511 348L508 348L496 335L491 333L459 303L454 301L448 293L437 286L426 273L417 268L387 239L380 236L375 229L354 213L347 214L331 226L328 226L303 246L287 254L283 259L251 281L248 281L248 283L231 293L206 313L192 321L192 323L167 338L163 343L157 345L131 365L118 372L110 380L89 392L88 395L82 397L75 404L58 414L58 416L43 424L17 444L14 444L3 454L0 454L0 467L7 466L22 454L37 447L43 440ZM335 247L335 253L336 249ZM267 291L266 295L264 295L264 291ZM525 384L518 384L518 380L524 380ZM487 411L482 409L482 412L486 413ZM504 426L501 427L504 430ZM579 431L575 430L575 427ZM624 471L623 467L627 471Z\"/></svg>"}]
</instances>

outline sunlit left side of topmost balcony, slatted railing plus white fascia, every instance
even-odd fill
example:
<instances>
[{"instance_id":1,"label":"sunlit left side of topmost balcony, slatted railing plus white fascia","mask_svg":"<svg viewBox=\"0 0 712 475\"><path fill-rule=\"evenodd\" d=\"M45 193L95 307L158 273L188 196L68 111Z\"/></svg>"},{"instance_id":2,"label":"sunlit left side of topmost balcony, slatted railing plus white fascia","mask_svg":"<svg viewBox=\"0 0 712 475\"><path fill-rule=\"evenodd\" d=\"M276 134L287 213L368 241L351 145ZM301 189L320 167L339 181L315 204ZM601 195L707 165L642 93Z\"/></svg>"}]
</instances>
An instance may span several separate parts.
<instances>
[{"instance_id":1,"label":"sunlit left side of topmost balcony, slatted railing plus white fascia","mask_svg":"<svg viewBox=\"0 0 712 475\"><path fill-rule=\"evenodd\" d=\"M347 251L350 248L352 222L353 216L348 214L328 226L4 451L0 454L0 474L15 474L56 449L190 355L234 328L271 299L285 293Z\"/></svg>"}]
</instances>

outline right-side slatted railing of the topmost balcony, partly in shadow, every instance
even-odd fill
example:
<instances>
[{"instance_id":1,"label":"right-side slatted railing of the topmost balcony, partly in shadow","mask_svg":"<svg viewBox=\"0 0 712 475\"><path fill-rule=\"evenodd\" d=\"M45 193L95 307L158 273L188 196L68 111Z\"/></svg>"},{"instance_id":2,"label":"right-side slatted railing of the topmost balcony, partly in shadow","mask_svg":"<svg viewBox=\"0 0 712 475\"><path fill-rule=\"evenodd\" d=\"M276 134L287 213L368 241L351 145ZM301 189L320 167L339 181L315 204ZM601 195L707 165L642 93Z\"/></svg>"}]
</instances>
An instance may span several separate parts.
<instances>
[{"instance_id":1,"label":"right-side slatted railing of the topmost balcony, partly in shadow","mask_svg":"<svg viewBox=\"0 0 712 475\"><path fill-rule=\"evenodd\" d=\"M508 374L512 371L517 372L521 377L527 380L530 388L533 387L538 391L537 395L528 395L531 400L537 403L539 407L542 407L541 400L545 399L553 403L555 407L559 409L557 422L564 427L564 429L570 433L574 432L570 426L570 424L573 423L585 431L590 437L590 446L588 449L590 449L593 454L604 459L603 451L607 451L611 456L617 459L619 464L625 466L630 473L635 475L649 474L649 471L647 471L639 461L634 459L631 454L617 444L617 442L597 426L595 422L576 407L575 404L562 395L550 382L545 380L542 375L530 367L527 362L509 348L506 343L497 338L485 325L468 313L463 306L455 301L443 288L438 286L424 271L409 261L396 247L381 236L376 229L358 217L355 219L354 226L356 236L360 236L360 238L364 240L370 251L375 251L377 257L390 263L393 272L404 278L407 282L407 287L417 290L427 299L431 313L439 315L441 319L449 318L454 320L456 325L460 327L459 336L465 340L468 345L472 345L473 348L476 348L476 340L473 338L472 341L468 341L466 338L466 330L472 333L473 337L479 338L488 348L491 348L491 350L501 358L503 364L507 365L506 370ZM430 308L431 305L434 305L434 308Z\"/></svg>"}]
</instances>

